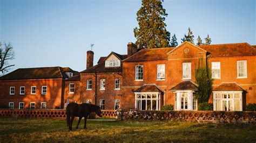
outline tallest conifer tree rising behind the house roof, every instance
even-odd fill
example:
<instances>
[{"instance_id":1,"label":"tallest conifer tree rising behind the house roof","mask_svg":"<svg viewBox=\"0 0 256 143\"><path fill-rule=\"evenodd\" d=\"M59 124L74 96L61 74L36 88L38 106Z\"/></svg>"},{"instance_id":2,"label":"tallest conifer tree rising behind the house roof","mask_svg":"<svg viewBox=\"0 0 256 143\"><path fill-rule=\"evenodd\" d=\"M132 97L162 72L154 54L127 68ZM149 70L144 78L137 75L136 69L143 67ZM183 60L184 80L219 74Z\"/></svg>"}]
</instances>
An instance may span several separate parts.
<instances>
[{"instance_id":1,"label":"tallest conifer tree rising behind the house roof","mask_svg":"<svg viewBox=\"0 0 256 143\"><path fill-rule=\"evenodd\" d=\"M143 48L170 46L170 32L164 23L167 13L162 5L163 0L142 0L142 7L137 12L139 28L133 29L136 43Z\"/></svg>"}]
</instances>

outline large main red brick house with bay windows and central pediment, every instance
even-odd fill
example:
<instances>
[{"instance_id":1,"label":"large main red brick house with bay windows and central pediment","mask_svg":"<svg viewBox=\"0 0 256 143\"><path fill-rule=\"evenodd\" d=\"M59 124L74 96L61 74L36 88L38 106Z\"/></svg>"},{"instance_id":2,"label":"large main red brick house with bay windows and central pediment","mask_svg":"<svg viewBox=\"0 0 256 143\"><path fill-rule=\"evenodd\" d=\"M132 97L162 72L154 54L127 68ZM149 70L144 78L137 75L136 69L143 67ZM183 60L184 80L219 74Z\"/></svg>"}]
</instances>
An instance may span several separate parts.
<instances>
[{"instance_id":1,"label":"large main red brick house with bay windows and central pediment","mask_svg":"<svg viewBox=\"0 0 256 143\"><path fill-rule=\"evenodd\" d=\"M248 103L256 103L255 48L247 43L196 46L184 42L175 48L139 49L129 43L127 55L111 52L95 66L93 52L88 51L86 70L52 83L64 88L58 87L63 92L52 96L56 104L51 102L51 106L87 102L106 110L160 110L162 105L173 104L175 110L197 110L194 76L202 63L210 67L214 79L209 101L214 110L242 111ZM0 105L10 102L6 94L13 85L7 83L0 80L4 99Z\"/></svg>"}]
</instances>

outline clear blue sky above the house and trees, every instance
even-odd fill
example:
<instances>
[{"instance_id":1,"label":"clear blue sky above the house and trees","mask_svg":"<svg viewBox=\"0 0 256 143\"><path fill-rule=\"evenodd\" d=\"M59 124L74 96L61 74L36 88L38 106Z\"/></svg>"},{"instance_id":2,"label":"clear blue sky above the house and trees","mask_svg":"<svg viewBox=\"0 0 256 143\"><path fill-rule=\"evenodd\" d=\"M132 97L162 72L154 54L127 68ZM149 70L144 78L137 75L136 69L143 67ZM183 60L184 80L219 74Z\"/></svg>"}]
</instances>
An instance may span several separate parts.
<instances>
[{"instance_id":1,"label":"clear blue sky above the house and trees","mask_svg":"<svg viewBox=\"0 0 256 143\"><path fill-rule=\"evenodd\" d=\"M15 50L12 70L61 66L82 71L86 51L95 44L94 63L111 51L127 53L135 42L133 28L141 1L0 0L0 41ZM165 23L178 42L190 27L212 44L248 42L256 45L252 1L164 1ZM196 40L196 38L194 40Z\"/></svg>"}]
</instances>

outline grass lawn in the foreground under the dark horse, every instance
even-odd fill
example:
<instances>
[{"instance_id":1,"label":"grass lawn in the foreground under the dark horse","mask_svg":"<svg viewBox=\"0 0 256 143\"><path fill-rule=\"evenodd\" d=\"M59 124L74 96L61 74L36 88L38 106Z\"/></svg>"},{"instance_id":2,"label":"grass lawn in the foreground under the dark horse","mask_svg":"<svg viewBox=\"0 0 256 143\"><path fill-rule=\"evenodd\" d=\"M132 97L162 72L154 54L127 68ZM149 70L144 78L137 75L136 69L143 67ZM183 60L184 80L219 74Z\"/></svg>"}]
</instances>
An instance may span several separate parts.
<instances>
[{"instance_id":1,"label":"grass lawn in the foreground under the dark horse","mask_svg":"<svg viewBox=\"0 0 256 143\"><path fill-rule=\"evenodd\" d=\"M0 142L255 142L255 124L185 121L87 121L69 131L65 120L0 118Z\"/></svg>"}]
</instances>

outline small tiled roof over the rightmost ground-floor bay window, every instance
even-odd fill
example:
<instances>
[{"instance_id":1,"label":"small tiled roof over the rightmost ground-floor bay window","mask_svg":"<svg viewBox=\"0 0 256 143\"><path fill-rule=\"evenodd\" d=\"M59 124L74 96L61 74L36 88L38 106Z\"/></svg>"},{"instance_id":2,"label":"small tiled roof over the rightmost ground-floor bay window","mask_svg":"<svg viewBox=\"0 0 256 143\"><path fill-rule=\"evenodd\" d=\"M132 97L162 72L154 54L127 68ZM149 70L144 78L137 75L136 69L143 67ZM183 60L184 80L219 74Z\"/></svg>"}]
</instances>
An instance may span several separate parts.
<instances>
[{"instance_id":1,"label":"small tiled roof over the rightmost ground-floor bay window","mask_svg":"<svg viewBox=\"0 0 256 143\"><path fill-rule=\"evenodd\" d=\"M213 91L243 91L237 83L221 83L218 87L213 88Z\"/></svg>"}]
</instances>

